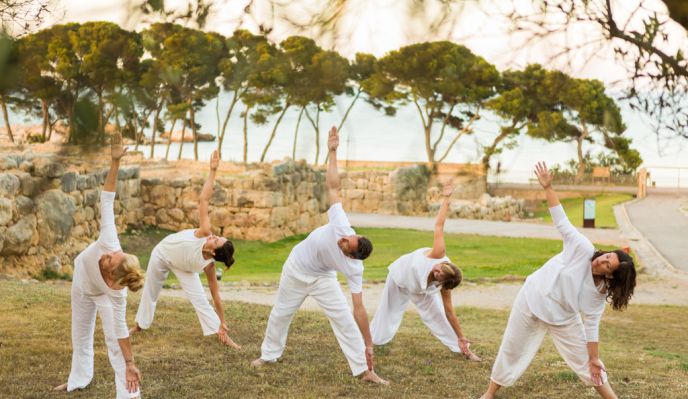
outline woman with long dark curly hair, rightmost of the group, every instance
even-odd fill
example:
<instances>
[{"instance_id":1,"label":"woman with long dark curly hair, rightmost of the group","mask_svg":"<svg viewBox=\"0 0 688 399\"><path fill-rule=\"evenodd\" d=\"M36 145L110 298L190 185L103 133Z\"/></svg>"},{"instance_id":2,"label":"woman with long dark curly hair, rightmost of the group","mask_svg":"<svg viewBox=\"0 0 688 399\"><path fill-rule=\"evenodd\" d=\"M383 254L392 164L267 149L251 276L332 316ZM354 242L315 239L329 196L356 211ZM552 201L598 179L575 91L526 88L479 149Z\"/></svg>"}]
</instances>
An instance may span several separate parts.
<instances>
[{"instance_id":1,"label":"woman with long dark curly hair, rightmost of the group","mask_svg":"<svg viewBox=\"0 0 688 399\"><path fill-rule=\"evenodd\" d=\"M545 189L564 248L528 276L516 297L482 399L494 398L499 388L518 380L546 333L584 383L595 387L605 399L617 398L599 357L599 323L607 302L614 310L628 306L635 288L633 258L621 250L595 251L566 217L547 165L538 163L535 174Z\"/></svg>"}]
</instances>

